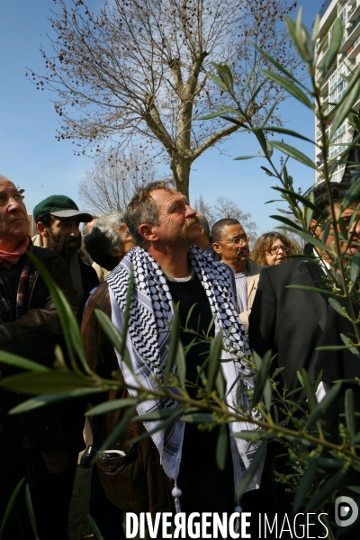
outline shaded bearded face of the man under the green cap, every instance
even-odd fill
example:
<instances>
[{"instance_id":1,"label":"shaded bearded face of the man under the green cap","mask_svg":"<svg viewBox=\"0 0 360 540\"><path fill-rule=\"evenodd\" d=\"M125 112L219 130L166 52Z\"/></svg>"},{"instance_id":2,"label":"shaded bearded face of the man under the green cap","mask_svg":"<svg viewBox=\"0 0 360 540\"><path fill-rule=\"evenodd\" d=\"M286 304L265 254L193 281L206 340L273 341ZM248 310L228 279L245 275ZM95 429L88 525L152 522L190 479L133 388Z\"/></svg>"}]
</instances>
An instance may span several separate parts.
<instances>
[{"instance_id":1,"label":"shaded bearded face of the man under the green cap","mask_svg":"<svg viewBox=\"0 0 360 540\"><path fill-rule=\"evenodd\" d=\"M72 257L81 247L78 218L56 218L50 227L42 229L44 246L60 257ZM38 224L39 229L39 224ZM40 229L39 229L40 230Z\"/></svg>"}]
</instances>

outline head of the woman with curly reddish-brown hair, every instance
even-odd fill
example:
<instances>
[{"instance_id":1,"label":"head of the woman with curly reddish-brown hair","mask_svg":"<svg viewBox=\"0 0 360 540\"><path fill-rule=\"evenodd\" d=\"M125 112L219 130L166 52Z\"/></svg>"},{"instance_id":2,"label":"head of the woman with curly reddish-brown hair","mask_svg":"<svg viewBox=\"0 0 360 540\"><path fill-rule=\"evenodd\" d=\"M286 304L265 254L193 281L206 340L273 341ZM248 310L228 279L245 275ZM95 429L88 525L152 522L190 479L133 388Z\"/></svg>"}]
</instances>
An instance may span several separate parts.
<instances>
[{"instance_id":1,"label":"head of the woman with curly reddish-brown hair","mask_svg":"<svg viewBox=\"0 0 360 540\"><path fill-rule=\"evenodd\" d=\"M251 252L251 260L259 266L274 266L286 263L289 255L296 253L295 244L280 232L266 232L257 238Z\"/></svg>"}]
</instances>

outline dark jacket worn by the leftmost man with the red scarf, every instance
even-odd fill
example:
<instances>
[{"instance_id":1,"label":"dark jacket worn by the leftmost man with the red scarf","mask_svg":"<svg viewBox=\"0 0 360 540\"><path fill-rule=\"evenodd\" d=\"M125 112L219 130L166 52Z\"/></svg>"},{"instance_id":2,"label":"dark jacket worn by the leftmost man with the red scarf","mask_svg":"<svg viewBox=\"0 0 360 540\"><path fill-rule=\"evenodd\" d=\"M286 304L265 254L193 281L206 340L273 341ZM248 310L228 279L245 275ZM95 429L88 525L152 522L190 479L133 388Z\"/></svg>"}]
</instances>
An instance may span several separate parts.
<instances>
[{"instance_id":1,"label":"dark jacket worn by the leftmost man with the red scarf","mask_svg":"<svg viewBox=\"0 0 360 540\"><path fill-rule=\"evenodd\" d=\"M33 252L76 311L76 292L72 288L67 264L48 249L34 247ZM33 265L30 269L25 305L26 313L23 317L14 322L0 324L0 347L4 351L51 366L55 359L55 346L58 344L65 348L63 332L49 290ZM0 362L0 371L1 378L4 378L19 370ZM21 417L9 416L7 412L24 399L26 397L21 397L16 392L0 389L0 485L2 494L7 498L9 492L6 488L12 491L16 481L24 476L19 429ZM80 450L84 446L82 409L79 403L68 401L31 412L32 433L45 463L49 470L52 469L50 472L64 470L67 467L67 452L74 448Z\"/></svg>"}]
</instances>

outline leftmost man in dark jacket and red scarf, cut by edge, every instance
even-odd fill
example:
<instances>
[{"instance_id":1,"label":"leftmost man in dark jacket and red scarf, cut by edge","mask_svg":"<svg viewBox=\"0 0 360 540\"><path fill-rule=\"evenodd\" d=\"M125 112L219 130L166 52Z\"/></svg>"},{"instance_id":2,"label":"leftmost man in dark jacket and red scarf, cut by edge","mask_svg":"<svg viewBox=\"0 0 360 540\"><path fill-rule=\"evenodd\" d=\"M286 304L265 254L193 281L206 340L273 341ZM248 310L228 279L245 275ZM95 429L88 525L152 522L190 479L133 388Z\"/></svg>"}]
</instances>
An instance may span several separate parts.
<instances>
[{"instance_id":1,"label":"leftmost man in dark jacket and red scarf, cut by edge","mask_svg":"<svg viewBox=\"0 0 360 540\"><path fill-rule=\"evenodd\" d=\"M0 349L51 366L55 346L64 347L63 332L49 290L26 249L40 259L76 311L67 264L48 249L32 247L23 197L0 176ZM1 380L16 371L0 362ZM83 411L71 402L9 416L24 399L0 390L0 522L14 487L25 477L40 538L65 540L77 455L84 447ZM2 538L32 538L29 529L22 492Z\"/></svg>"}]
</instances>

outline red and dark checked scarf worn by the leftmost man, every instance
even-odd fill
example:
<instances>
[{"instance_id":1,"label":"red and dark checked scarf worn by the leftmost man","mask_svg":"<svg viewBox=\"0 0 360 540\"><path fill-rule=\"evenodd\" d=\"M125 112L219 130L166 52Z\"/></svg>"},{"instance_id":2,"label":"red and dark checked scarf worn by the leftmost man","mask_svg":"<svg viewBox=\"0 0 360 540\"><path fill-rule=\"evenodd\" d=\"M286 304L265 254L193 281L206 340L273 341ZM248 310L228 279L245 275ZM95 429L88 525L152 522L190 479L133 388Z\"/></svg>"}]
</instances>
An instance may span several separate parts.
<instances>
[{"instance_id":1,"label":"red and dark checked scarf worn by the leftmost man","mask_svg":"<svg viewBox=\"0 0 360 540\"><path fill-rule=\"evenodd\" d=\"M11 266L15 265L20 257L23 256L25 250L28 249L32 252L32 242L30 237L26 237L23 243L12 253L7 253L0 251L0 262L3 266L10 269ZM6 257L4 257L4 255ZM16 313L14 314L11 308L11 302L6 291L6 287L2 279L0 278L0 323L4 324L5 322L12 322L13 320L18 320L23 317L25 312L25 294L27 289L27 284L29 281L30 275L30 266L31 260L29 257L26 257L22 274L19 280L19 286L16 293ZM14 317L15 315L15 317Z\"/></svg>"}]
</instances>

